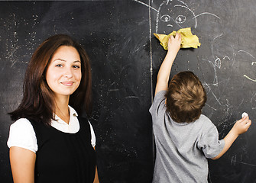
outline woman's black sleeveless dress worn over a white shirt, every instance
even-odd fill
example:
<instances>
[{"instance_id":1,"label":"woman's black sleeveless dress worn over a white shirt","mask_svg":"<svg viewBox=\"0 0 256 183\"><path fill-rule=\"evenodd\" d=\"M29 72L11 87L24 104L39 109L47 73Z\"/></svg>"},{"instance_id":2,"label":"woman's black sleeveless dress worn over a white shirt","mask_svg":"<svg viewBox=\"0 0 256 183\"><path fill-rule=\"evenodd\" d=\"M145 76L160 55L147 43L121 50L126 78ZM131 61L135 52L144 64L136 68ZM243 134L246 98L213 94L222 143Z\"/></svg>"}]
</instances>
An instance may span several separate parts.
<instances>
[{"instance_id":1,"label":"woman's black sleeveless dress worn over a white shirt","mask_svg":"<svg viewBox=\"0 0 256 183\"><path fill-rule=\"evenodd\" d=\"M54 127L31 121L37 136L34 179L36 183L93 182L96 152L86 118L78 117L79 131L63 133Z\"/></svg>"}]
</instances>

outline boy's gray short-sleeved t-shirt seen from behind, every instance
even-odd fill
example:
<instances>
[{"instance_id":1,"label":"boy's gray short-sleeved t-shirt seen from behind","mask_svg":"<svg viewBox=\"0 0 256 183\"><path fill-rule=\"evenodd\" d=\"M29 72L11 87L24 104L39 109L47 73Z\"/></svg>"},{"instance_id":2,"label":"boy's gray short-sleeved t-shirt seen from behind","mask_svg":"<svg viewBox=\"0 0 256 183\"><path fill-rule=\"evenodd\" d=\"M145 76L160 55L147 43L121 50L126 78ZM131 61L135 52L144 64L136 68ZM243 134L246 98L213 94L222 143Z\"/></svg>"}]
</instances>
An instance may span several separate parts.
<instances>
[{"instance_id":1,"label":"boy's gray short-sleeved t-shirt seen from behind","mask_svg":"<svg viewBox=\"0 0 256 183\"><path fill-rule=\"evenodd\" d=\"M150 108L156 144L153 182L208 182L208 161L219 155L225 141L203 114L192 123L177 123L165 104L166 91L158 92Z\"/></svg>"}]
</instances>

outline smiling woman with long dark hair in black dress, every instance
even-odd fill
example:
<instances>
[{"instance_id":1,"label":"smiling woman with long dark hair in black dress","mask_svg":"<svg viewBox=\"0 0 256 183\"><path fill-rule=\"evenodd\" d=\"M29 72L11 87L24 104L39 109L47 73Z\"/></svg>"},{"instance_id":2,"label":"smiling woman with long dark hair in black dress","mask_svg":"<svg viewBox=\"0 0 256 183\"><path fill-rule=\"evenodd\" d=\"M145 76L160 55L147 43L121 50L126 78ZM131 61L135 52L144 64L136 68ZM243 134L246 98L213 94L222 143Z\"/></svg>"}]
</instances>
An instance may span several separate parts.
<instances>
[{"instance_id":1,"label":"smiling woman with long dark hair in black dress","mask_svg":"<svg viewBox=\"0 0 256 183\"><path fill-rule=\"evenodd\" d=\"M83 108L89 114L90 104L86 51L67 35L49 37L34 52L23 99L10 113L15 120L8 139L15 183L99 182L95 135L81 115Z\"/></svg>"}]
</instances>

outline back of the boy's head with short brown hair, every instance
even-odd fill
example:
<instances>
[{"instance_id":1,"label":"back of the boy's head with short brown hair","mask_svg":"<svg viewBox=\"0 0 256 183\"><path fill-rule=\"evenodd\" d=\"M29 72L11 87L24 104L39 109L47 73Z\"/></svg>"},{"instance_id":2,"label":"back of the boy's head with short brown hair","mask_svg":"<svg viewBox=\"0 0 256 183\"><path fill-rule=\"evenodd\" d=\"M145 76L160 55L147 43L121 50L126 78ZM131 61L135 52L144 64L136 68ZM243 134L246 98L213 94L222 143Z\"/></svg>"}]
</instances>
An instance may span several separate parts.
<instances>
[{"instance_id":1,"label":"back of the boy's head with short brown hair","mask_svg":"<svg viewBox=\"0 0 256 183\"><path fill-rule=\"evenodd\" d=\"M167 111L179 123L197 120L206 104L206 91L193 72L180 72L170 81L167 94Z\"/></svg>"}]
</instances>

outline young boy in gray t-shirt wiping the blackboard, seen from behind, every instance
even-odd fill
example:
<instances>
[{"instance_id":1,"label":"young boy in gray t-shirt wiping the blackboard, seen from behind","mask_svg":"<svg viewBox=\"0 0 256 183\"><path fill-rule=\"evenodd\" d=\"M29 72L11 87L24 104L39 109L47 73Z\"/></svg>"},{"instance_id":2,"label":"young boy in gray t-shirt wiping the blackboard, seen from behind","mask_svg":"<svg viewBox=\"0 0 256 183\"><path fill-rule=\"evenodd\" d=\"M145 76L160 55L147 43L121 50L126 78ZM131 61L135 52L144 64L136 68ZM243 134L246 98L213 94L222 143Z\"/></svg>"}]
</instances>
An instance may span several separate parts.
<instances>
[{"instance_id":1,"label":"young boy in gray t-shirt wiping the blackboard, seen from behind","mask_svg":"<svg viewBox=\"0 0 256 183\"><path fill-rule=\"evenodd\" d=\"M153 182L208 182L207 159L219 159L239 134L251 125L238 120L223 140L208 117L201 114L206 92L193 72L174 75L168 87L173 61L180 50L181 35L170 37L167 56L157 75L150 108L156 144Z\"/></svg>"}]
</instances>

